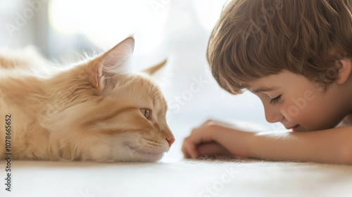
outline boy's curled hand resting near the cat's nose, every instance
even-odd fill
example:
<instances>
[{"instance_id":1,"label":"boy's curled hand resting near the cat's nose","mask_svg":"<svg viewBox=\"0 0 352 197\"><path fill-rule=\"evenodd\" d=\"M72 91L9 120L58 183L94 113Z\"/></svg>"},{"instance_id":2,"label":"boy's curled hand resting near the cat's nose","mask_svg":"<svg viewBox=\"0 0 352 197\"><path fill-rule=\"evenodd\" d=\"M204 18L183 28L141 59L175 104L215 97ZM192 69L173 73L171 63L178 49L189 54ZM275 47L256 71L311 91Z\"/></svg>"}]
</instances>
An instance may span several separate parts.
<instances>
[{"instance_id":1,"label":"boy's curled hand resting near the cat's nose","mask_svg":"<svg viewBox=\"0 0 352 197\"><path fill-rule=\"evenodd\" d=\"M223 155L227 157L234 157L235 155L233 153L236 153L236 156L244 156L244 154L241 153L244 149L242 146L244 144L236 143L236 141L243 141L241 139L237 139L236 137L239 136L239 138L241 138L241 135L238 135L239 132L242 131L234 129L234 125L216 120L208 120L200 127L193 129L191 135L184 139L182 146L184 158L199 158L204 155ZM227 140L231 140L234 144L236 144L237 147L231 147L236 150L229 151L229 149L226 148L227 140L222 140L222 134L225 134L224 136L233 137L233 139Z\"/></svg>"}]
</instances>

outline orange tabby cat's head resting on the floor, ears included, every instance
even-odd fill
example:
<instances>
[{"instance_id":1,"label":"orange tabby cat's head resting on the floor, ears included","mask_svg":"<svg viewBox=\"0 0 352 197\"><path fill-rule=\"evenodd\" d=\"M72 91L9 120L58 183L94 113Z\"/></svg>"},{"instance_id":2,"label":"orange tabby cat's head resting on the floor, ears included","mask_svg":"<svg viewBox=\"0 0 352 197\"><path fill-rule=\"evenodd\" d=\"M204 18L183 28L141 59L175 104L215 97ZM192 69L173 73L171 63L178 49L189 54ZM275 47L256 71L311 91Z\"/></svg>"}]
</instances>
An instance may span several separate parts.
<instances>
[{"instance_id":1,"label":"orange tabby cat's head resting on the floor, ears included","mask_svg":"<svg viewBox=\"0 0 352 197\"><path fill-rule=\"evenodd\" d=\"M151 80L165 62L131 72L133 48L129 37L51 80L42 125L59 158L152 162L169 150L168 106Z\"/></svg>"}]
</instances>

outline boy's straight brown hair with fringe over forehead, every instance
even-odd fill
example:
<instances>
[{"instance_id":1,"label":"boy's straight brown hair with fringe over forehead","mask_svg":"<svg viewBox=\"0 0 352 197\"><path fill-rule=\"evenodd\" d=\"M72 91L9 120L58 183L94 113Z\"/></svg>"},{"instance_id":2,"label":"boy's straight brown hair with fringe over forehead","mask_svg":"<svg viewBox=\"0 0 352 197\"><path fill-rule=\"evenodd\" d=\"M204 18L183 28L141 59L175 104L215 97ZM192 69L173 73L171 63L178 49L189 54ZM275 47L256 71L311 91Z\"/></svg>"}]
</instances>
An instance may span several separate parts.
<instances>
[{"instance_id":1,"label":"boy's straight brown hair with fringe over forehead","mask_svg":"<svg viewBox=\"0 0 352 197\"><path fill-rule=\"evenodd\" d=\"M283 70L326 91L337 80L335 61L351 57L351 0L230 1L207 51L213 77L232 94Z\"/></svg>"}]
</instances>

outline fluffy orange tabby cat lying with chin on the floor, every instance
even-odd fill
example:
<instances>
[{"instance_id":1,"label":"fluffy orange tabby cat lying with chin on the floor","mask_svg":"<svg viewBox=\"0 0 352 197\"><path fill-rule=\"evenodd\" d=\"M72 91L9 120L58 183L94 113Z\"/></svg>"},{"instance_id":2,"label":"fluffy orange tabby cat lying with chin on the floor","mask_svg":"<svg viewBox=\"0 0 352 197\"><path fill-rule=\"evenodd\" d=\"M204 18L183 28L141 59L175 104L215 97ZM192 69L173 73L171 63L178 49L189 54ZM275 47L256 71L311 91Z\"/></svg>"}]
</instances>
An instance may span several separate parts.
<instances>
[{"instance_id":1,"label":"fluffy orange tabby cat lying with chin on the floor","mask_svg":"<svg viewBox=\"0 0 352 197\"><path fill-rule=\"evenodd\" d=\"M6 114L13 159L159 160L175 140L167 104L149 75L130 70L134 39L69 68L47 66L37 53L0 53L0 158ZM151 110L149 120L140 108Z\"/></svg>"}]
</instances>

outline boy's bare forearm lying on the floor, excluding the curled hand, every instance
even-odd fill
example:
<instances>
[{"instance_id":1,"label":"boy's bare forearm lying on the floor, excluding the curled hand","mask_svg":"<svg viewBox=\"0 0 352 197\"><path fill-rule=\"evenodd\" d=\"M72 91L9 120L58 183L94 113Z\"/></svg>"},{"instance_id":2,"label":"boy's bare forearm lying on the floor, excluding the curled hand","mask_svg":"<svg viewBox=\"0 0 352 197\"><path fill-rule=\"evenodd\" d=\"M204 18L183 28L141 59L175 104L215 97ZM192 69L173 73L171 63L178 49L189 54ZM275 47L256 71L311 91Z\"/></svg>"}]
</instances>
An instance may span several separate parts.
<instances>
[{"instance_id":1,"label":"boy's bare forearm lying on the floor, excluding the curled hand","mask_svg":"<svg viewBox=\"0 0 352 197\"><path fill-rule=\"evenodd\" d=\"M352 164L352 127L316 132L242 132L224 129L213 139L249 158Z\"/></svg>"}]
</instances>

